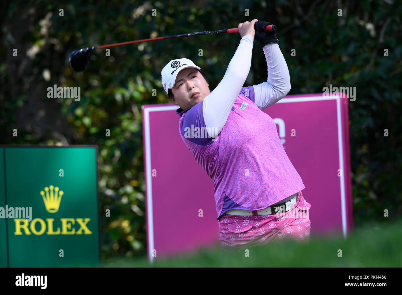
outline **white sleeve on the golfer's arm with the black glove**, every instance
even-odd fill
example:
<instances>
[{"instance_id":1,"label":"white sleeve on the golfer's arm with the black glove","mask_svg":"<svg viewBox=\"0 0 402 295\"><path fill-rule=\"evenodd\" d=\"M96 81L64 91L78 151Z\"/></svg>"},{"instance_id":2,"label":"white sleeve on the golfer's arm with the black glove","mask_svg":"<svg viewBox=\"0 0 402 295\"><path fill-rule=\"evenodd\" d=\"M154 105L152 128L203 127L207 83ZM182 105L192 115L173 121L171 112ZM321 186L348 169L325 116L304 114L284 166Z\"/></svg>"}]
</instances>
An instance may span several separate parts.
<instances>
[{"instance_id":1,"label":"white sleeve on the golfer's arm with the black glove","mask_svg":"<svg viewBox=\"0 0 402 295\"><path fill-rule=\"evenodd\" d=\"M267 82L253 85L254 103L260 110L272 106L281 100L290 91L289 69L281 49L277 43L271 43L263 47L267 60Z\"/></svg>"}]
</instances>

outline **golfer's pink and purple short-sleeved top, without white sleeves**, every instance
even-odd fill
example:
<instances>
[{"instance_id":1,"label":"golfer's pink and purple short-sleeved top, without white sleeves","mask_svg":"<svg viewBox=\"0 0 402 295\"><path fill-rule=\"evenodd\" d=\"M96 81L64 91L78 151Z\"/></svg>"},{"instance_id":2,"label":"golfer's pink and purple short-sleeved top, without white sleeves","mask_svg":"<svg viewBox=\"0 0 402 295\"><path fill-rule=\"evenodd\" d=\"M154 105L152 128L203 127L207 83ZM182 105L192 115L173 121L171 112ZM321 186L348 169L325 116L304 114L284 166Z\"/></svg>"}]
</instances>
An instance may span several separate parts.
<instances>
[{"instance_id":1,"label":"golfer's pink and purple short-sleeved top, without white sleeves","mask_svg":"<svg viewBox=\"0 0 402 295\"><path fill-rule=\"evenodd\" d=\"M213 180L218 219L231 209L261 210L305 188L275 122L254 104L252 86L242 88L215 140L206 136L202 106L176 112L183 142Z\"/></svg>"}]
</instances>

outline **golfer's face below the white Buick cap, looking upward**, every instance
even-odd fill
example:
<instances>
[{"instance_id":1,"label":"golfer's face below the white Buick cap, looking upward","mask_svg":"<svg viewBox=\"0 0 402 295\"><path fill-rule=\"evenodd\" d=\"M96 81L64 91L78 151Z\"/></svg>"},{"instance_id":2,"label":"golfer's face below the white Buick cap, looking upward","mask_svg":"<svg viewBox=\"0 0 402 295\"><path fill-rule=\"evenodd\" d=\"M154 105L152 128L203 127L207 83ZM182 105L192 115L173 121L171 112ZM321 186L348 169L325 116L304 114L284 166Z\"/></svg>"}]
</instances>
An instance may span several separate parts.
<instances>
[{"instance_id":1,"label":"golfer's face below the white Buick cap, looking upward","mask_svg":"<svg viewBox=\"0 0 402 295\"><path fill-rule=\"evenodd\" d=\"M172 93L174 101L180 108L187 110L203 101L211 92L201 73L197 69L189 67L178 73ZM193 96L194 93L196 94Z\"/></svg>"}]
</instances>

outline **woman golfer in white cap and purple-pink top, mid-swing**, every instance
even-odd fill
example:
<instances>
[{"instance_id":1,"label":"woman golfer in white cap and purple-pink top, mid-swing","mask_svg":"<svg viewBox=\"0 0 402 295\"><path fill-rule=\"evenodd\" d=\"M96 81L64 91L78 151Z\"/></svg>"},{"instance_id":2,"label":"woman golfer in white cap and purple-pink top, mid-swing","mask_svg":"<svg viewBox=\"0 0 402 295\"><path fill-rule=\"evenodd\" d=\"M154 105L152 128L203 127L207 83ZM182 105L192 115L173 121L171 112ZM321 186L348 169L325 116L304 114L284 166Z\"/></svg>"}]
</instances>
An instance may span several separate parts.
<instances>
[{"instance_id":1,"label":"woman golfer in white cap and purple-pink top, mid-swing","mask_svg":"<svg viewBox=\"0 0 402 295\"><path fill-rule=\"evenodd\" d=\"M254 24L256 30L254 31ZM226 73L210 92L189 59L173 59L162 69L162 85L180 106L179 132L214 184L222 247L266 244L272 239L309 240L310 204L289 161L273 119L262 110L290 90L290 77L271 23L238 25L240 44ZM242 87L255 38L263 45L267 82Z\"/></svg>"}]
</instances>

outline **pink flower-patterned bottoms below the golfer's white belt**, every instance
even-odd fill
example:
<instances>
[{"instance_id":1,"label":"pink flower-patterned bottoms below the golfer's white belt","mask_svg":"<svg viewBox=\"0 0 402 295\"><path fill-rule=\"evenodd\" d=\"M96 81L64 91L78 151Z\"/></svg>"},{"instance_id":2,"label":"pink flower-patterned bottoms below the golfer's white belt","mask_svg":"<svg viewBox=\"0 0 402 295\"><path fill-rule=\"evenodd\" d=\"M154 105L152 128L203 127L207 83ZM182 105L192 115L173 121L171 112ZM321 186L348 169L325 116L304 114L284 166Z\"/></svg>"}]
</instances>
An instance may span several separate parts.
<instances>
[{"instance_id":1,"label":"pink flower-patterned bottoms below the golfer's white belt","mask_svg":"<svg viewBox=\"0 0 402 295\"><path fill-rule=\"evenodd\" d=\"M287 212L257 216L223 214L219 218L221 246L241 250L250 245L264 245L271 240L285 238L308 242L310 207L300 191L293 209Z\"/></svg>"}]
</instances>

